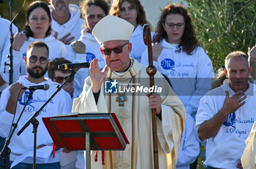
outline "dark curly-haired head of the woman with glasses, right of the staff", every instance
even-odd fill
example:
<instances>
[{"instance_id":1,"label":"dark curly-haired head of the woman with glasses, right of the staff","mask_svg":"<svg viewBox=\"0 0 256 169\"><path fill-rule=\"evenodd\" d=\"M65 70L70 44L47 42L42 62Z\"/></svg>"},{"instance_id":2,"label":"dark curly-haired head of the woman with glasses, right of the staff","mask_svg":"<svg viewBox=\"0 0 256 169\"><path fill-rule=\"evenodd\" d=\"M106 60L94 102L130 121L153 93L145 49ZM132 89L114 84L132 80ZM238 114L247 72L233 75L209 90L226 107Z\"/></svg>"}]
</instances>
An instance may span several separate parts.
<instances>
[{"instance_id":1,"label":"dark curly-haired head of the woman with glasses, right of the staff","mask_svg":"<svg viewBox=\"0 0 256 169\"><path fill-rule=\"evenodd\" d=\"M192 55L192 51L199 45L189 12L181 5L169 4L165 7L157 23L156 33L153 42L162 42L165 39L170 44L178 44L179 52L182 48L187 55Z\"/></svg>"}]
</instances>

